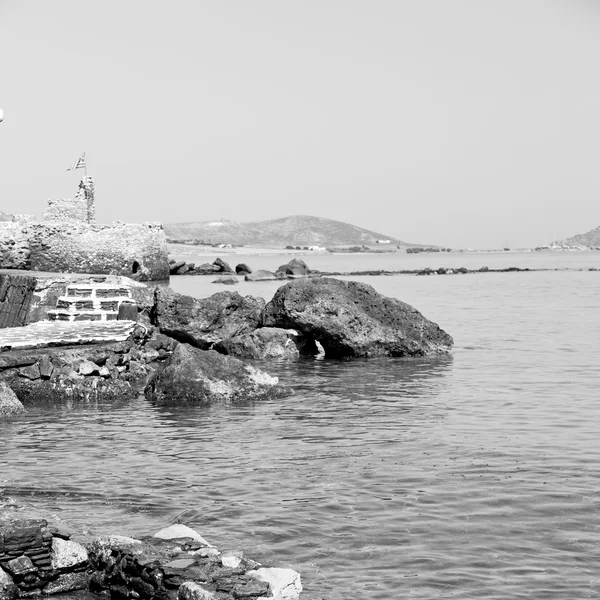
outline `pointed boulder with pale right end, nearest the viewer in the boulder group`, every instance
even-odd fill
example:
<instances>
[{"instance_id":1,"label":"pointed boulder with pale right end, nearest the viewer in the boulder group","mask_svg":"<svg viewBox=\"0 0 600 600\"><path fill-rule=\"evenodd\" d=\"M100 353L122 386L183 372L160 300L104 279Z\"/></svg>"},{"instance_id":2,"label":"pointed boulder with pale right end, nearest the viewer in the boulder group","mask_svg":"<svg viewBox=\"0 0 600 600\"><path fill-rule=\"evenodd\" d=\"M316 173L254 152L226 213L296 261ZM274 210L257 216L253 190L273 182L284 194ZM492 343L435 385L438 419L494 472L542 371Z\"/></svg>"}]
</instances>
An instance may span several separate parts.
<instances>
[{"instance_id":1,"label":"pointed boulder with pale right end, nearest the viewer in the boulder group","mask_svg":"<svg viewBox=\"0 0 600 600\"><path fill-rule=\"evenodd\" d=\"M232 356L179 344L154 373L146 397L160 405L232 403L280 395L278 379Z\"/></svg>"}]
</instances>

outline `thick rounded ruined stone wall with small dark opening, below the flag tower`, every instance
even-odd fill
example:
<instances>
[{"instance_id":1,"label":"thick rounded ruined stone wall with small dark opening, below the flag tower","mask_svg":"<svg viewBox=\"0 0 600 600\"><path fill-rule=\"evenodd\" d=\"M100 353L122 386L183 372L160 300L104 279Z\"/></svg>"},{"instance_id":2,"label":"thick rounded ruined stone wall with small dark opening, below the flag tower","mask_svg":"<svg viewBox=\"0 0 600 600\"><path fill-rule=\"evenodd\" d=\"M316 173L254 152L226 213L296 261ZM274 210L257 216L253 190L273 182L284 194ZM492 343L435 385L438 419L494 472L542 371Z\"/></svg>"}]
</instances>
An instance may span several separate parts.
<instances>
[{"instance_id":1,"label":"thick rounded ruined stone wall with small dark opening, below the flag tower","mask_svg":"<svg viewBox=\"0 0 600 600\"><path fill-rule=\"evenodd\" d=\"M169 278L167 240L160 223L30 223L31 268L37 271Z\"/></svg>"}]
</instances>

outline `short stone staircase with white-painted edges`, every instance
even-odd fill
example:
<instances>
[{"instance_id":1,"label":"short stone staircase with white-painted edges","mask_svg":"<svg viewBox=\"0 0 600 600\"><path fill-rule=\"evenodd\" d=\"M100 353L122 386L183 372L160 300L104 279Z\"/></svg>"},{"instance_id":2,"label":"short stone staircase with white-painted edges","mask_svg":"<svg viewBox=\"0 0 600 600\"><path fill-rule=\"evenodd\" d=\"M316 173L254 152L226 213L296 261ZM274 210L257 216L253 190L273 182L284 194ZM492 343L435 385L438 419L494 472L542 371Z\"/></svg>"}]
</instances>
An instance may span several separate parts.
<instances>
[{"instance_id":1,"label":"short stone staircase with white-painted edges","mask_svg":"<svg viewBox=\"0 0 600 600\"><path fill-rule=\"evenodd\" d=\"M85 283L67 286L56 308L48 311L49 321L116 321L122 304L135 306L131 290L110 283Z\"/></svg>"}]
</instances>

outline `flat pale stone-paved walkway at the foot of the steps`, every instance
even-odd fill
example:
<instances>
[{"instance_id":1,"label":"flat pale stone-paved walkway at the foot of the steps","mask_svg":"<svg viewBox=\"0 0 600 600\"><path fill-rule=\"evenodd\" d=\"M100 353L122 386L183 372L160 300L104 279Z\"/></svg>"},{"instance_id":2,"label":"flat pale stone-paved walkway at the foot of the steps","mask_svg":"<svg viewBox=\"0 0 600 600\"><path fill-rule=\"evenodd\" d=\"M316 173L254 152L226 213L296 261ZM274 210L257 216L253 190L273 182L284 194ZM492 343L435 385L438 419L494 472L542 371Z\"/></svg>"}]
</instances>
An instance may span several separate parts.
<instances>
[{"instance_id":1,"label":"flat pale stone-paved walkway at the foot of the steps","mask_svg":"<svg viewBox=\"0 0 600 600\"><path fill-rule=\"evenodd\" d=\"M134 321L38 321L25 327L0 329L0 352L123 342L135 325Z\"/></svg>"}]
</instances>

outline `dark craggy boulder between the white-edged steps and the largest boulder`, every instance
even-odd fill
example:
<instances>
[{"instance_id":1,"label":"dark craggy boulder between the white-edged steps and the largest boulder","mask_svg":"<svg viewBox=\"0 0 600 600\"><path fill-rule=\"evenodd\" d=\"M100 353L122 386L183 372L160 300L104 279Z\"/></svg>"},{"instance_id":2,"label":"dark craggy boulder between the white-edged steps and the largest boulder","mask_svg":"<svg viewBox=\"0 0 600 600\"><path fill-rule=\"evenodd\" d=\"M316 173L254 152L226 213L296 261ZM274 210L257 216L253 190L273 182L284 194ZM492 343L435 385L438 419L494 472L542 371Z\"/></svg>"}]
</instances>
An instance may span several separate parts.
<instances>
[{"instance_id":1,"label":"dark craggy boulder between the white-edged steps and the largest boulder","mask_svg":"<svg viewBox=\"0 0 600 600\"><path fill-rule=\"evenodd\" d=\"M217 342L254 331L265 301L237 292L192 298L169 288L156 288L152 322L176 340L208 350Z\"/></svg>"}]
</instances>

